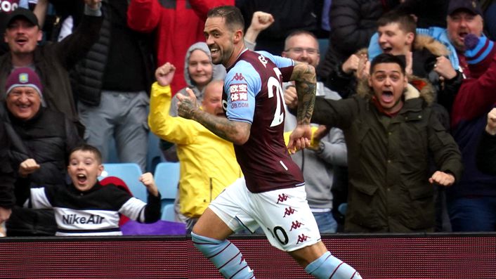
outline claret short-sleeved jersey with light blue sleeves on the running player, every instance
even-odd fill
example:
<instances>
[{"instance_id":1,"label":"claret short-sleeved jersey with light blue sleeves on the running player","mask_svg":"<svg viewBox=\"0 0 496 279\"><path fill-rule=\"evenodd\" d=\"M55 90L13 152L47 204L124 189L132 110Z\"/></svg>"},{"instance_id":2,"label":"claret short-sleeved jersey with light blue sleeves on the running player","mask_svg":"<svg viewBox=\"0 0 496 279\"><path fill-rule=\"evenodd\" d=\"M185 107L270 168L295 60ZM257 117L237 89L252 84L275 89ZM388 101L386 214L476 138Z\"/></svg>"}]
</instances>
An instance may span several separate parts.
<instances>
[{"instance_id":1,"label":"claret short-sleeved jersey with light blue sleeves on the running player","mask_svg":"<svg viewBox=\"0 0 496 279\"><path fill-rule=\"evenodd\" d=\"M304 185L283 138L285 108L282 82L293 61L265 51L244 51L228 68L223 108L228 119L252 124L249 139L234 145L247 188L261 193Z\"/></svg>"}]
</instances>

